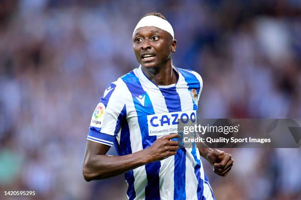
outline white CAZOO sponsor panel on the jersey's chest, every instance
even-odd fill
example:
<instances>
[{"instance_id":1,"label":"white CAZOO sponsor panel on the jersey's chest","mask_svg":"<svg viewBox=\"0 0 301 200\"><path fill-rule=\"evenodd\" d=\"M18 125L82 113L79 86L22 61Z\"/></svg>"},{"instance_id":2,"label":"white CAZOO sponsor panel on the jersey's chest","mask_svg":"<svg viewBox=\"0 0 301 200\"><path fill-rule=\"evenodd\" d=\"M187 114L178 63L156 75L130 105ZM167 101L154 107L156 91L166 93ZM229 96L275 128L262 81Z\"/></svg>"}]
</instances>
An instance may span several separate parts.
<instances>
[{"instance_id":1,"label":"white CAZOO sponsor panel on the jersey's chest","mask_svg":"<svg viewBox=\"0 0 301 200\"><path fill-rule=\"evenodd\" d=\"M149 135L178 133L180 123L195 123L196 111L181 111L148 115ZM180 131L180 130L179 130Z\"/></svg>"}]
</instances>

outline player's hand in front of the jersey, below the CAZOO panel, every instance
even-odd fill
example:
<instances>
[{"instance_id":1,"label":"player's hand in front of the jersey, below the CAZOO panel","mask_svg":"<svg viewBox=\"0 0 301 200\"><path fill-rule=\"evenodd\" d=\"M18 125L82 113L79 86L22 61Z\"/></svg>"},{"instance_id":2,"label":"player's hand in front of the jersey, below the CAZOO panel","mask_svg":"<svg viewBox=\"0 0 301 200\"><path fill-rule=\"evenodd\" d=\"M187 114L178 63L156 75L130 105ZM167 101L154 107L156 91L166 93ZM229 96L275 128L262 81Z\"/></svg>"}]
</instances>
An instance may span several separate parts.
<instances>
[{"instance_id":1,"label":"player's hand in front of the jersey, below the CAZOO panel","mask_svg":"<svg viewBox=\"0 0 301 200\"><path fill-rule=\"evenodd\" d=\"M146 149L145 156L150 162L163 160L169 156L175 155L179 149L178 141L171 141L173 138L178 138L180 135L173 133L157 139L151 147Z\"/></svg>"}]
</instances>

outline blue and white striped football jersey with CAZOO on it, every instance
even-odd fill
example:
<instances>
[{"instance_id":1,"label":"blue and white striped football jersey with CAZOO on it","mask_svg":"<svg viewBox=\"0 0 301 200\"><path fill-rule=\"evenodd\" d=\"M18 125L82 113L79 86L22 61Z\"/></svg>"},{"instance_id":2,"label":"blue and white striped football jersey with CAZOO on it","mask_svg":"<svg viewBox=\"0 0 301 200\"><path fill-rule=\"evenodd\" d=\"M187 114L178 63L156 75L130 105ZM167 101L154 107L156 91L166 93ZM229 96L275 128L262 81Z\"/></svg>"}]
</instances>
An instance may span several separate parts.
<instances>
[{"instance_id":1,"label":"blue and white striped football jersey with CAZOO on it","mask_svg":"<svg viewBox=\"0 0 301 200\"><path fill-rule=\"evenodd\" d=\"M172 67L179 75L174 85L157 86L141 66L111 83L92 115L87 139L114 145L119 155L127 155L177 132L177 119L196 118L202 78ZM214 200L196 148L179 149L125 173L125 179L129 200Z\"/></svg>"}]
</instances>

